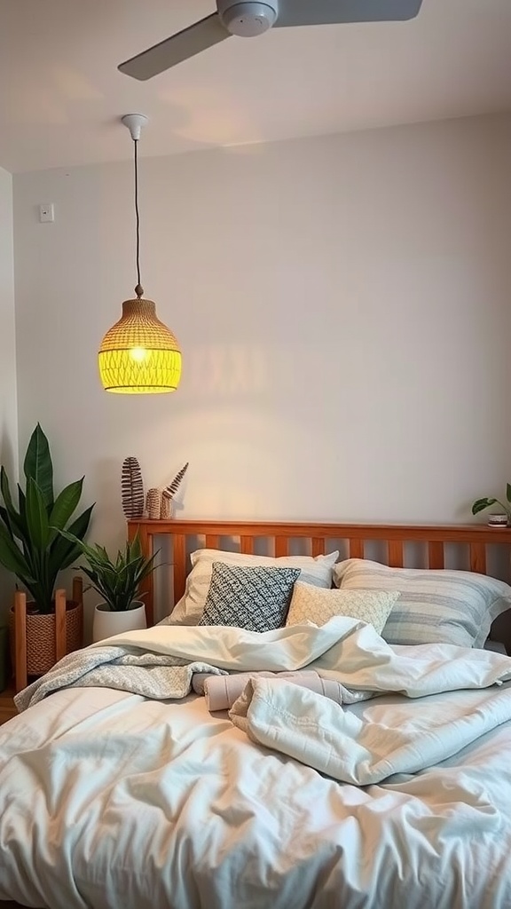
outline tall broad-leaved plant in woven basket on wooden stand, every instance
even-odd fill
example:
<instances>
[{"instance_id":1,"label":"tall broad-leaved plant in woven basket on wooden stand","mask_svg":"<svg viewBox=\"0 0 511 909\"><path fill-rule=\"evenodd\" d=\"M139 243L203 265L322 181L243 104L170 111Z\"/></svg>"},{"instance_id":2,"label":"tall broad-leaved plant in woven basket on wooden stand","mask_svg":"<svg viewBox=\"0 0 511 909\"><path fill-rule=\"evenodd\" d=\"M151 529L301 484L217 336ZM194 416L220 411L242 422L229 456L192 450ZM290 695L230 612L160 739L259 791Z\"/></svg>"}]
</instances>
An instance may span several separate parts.
<instances>
[{"instance_id":1,"label":"tall broad-leaved plant in woven basket on wooden stand","mask_svg":"<svg viewBox=\"0 0 511 909\"><path fill-rule=\"evenodd\" d=\"M17 508L5 467L0 468L0 563L15 574L32 600L26 607L26 672L43 674L55 663L55 584L75 562L94 505L72 520L84 477L54 493L54 468L45 433L37 424L24 460L25 491L17 484ZM60 531L69 530L76 542ZM66 602L66 652L82 646L82 606ZM14 638L15 614L9 626Z\"/></svg>"}]
</instances>

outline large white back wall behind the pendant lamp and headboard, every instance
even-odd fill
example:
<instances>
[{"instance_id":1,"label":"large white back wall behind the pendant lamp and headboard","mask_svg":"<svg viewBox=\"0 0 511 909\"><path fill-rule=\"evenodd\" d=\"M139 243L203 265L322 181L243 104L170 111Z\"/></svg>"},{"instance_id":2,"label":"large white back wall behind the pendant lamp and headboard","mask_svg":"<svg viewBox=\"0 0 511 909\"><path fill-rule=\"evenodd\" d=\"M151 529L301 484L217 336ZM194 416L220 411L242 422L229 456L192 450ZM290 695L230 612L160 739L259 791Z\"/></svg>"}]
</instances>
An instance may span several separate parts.
<instances>
[{"instance_id":1,"label":"large white back wall behind the pendant lamp and headboard","mask_svg":"<svg viewBox=\"0 0 511 909\"><path fill-rule=\"evenodd\" d=\"M143 284L184 354L153 397L96 373L135 285L131 165L15 176L22 452L40 420L105 544L127 454L146 485L190 462L180 516L467 520L511 479L510 162L506 116L142 143Z\"/></svg>"}]
</instances>

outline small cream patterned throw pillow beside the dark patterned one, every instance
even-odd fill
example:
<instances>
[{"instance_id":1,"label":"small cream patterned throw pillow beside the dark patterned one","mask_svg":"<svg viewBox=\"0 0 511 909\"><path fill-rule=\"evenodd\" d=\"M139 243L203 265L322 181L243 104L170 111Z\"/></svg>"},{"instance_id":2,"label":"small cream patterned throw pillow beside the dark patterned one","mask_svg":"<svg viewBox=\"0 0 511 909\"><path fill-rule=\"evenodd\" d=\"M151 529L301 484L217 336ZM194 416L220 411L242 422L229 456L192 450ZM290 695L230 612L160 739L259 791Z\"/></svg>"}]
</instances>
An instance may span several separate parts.
<instances>
[{"instance_id":1,"label":"small cream patterned throw pillow beside the dark patterned one","mask_svg":"<svg viewBox=\"0 0 511 909\"><path fill-rule=\"evenodd\" d=\"M350 615L372 624L381 634L396 603L396 591L322 590L310 584L295 584L286 625L314 622L323 625L335 615Z\"/></svg>"}]
</instances>

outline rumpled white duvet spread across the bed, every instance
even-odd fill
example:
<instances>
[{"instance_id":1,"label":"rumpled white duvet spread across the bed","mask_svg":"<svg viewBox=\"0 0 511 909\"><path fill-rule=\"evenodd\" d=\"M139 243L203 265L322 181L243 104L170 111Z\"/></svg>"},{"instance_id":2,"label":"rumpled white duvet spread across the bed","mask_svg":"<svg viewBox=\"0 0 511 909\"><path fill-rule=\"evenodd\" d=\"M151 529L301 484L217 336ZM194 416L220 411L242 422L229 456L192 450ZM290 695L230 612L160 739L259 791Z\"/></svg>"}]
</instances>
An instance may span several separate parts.
<instances>
[{"instance_id":1,"label":"rumpled white duvet spread across the bed","mask_svg":"<svg viewBox=\"0 0 511 909\"><path fill-rule=\"evenodd\" d=\"M0 899L55 909L511 907L511 660L336 631L337 643L312 646L318 671L408 696L338 707L258 680L233 708L242 725L252 715L247 735L227 714L207 714L202 698L78 687L0 727ZM209 648L215 664L247 668L246 633L230 651L222 634ZM257 635L253 668L296 668L280 664L283 653L311 664L319 634L269 634ZM144 640L169 646L156 629ZM353 782L332 778L341 774Z\"/></svg>"}]
</instances>

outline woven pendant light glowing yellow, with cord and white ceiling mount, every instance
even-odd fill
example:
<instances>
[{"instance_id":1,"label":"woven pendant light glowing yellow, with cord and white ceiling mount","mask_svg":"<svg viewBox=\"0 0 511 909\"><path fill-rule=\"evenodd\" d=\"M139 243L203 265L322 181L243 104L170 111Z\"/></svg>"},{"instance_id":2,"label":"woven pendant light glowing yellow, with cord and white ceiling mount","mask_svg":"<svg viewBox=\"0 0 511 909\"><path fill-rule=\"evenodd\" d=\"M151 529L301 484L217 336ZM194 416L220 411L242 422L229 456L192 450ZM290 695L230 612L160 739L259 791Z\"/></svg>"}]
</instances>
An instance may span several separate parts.
<instances>
[{"instance_id":1,"label":"woven pendant light glowing yellow, with cord and white ceiling mount","mask_svg":"<svg viewBox=\"0 0 511 909\"><path fill-rule=\"evenodd\" d=\"M103 338L98 354L99 374L107 392L120 395L174 392L181 377L181 352L175 336L156 317L153 301L145 300L140 284L137 146L147 117L126 114L122 122L129 129L135 147L136 298L125 300L122 318Z\"/></svg>"}]
</instances>

